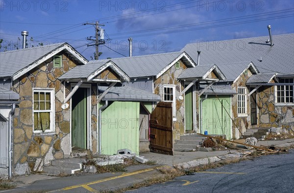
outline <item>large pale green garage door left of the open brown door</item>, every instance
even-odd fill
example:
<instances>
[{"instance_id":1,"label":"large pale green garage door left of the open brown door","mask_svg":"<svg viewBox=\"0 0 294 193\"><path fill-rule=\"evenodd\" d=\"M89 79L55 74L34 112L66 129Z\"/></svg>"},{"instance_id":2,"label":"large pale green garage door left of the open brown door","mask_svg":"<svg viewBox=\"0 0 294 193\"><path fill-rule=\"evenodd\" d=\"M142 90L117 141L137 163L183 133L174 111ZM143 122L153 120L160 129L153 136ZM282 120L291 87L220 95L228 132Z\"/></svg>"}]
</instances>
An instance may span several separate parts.
<instances>
[{"instance_id":1,"label":"large pale green garage door left of the open brown door","mask_svg":"<svg viewBox=\"0 0 294 193\"><path fill-rule=\"evenodd\" d=\"M130 149L139 154L139 102L114 101L101 115L101 153L116 154Z\"/></svg>"}]
</instances>

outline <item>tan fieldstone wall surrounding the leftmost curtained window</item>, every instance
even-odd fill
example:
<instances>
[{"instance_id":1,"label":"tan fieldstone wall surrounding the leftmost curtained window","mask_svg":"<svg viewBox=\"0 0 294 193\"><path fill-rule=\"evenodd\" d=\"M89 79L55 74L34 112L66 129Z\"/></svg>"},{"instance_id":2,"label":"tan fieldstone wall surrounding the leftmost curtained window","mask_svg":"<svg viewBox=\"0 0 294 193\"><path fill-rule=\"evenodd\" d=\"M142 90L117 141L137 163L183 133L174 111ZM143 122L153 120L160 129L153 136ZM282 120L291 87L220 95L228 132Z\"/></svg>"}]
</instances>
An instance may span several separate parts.
<instances>
[{"instance_id":1,"label":"tan fieldstone wall surrounding the leftmost curtained window","mask_svg":"<svg viewBox=\"0 0 294 193\"><path fill-rule=\"evenodd\" d=\"M57 78L76 64L66 53L62 53L62 63L62 68L53 68L50 58L13 81L11 90L18 93L22 100L13 116L13 163L17 175L40 171L50 160L70 156L70 108L61 108L64 86ZM55 131L52 133L33 132L32 88L54 89Z\"/></svg>"}]
</instances>

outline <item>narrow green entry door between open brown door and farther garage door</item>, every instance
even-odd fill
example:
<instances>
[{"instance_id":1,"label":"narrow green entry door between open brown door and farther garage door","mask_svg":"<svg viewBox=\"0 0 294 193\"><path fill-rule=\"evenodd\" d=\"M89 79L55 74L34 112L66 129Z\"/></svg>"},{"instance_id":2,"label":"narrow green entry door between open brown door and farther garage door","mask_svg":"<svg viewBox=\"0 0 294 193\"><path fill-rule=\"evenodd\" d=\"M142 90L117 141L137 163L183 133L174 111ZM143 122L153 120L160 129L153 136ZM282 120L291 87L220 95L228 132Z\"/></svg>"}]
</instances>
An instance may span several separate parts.
<instances>
[{"instance_id":1,"label":"narrow green entry door between open brown door and farther garage door","mask_svg":"<svg viewBox=\"0 0 294 193\"><path fill-rule=\"evenodd\" d=\"M185 130L193 130L193 89L188 89L185 93Z\"/></svg>"}]
</instances>

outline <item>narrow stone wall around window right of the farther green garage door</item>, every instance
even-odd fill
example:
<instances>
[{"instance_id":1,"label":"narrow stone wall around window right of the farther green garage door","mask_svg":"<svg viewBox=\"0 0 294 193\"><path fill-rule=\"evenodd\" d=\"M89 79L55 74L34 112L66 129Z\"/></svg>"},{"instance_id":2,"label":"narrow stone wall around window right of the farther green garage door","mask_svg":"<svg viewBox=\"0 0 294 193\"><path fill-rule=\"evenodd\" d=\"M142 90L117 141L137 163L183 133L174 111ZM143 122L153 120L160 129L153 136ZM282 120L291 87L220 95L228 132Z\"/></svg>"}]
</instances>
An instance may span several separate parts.
<instances>
[{"instance_id":1,"label":"narrow stone wall around window right of the farther green garage door","mask_svg":"<svg viewBox=\"0 0 294 193\"><path fill-rule=\"evenodd\" d=\"M232 89L235 89L238 93L238 87L246 87L246 82L252 75L250 70L246 70L239 79L232 84ZM248 94L248 89L247 89ZM247 97L247 115L246 117L238 117L238 95L234 95L232 97L232 119L238 126L239 130L242 134L246 131L247 128L251 127L251 119L250 119L250 97ZM242 135L237 129L236 125L232 122L233 129L233 138L239 139Z\"/></svg>"}]
</instances>

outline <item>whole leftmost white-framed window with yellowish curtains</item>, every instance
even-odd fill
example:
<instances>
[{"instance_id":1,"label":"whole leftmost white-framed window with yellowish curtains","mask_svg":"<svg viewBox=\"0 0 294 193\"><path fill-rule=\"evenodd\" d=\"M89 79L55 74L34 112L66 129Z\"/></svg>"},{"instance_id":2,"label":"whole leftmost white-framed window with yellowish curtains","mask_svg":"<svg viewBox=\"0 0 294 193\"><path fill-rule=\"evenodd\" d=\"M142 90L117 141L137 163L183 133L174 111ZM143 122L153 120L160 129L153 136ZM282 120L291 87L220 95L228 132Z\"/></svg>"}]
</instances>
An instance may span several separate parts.
<instances>
[{"instance_id":1,"label":"whole leftmost white-framed window with yellowish curtains","mask_svg":"<svg viewBox=\"0 0 294 193\"><path fill-rule=\"evenodd\" d=\"M52 132L54 126L54 90L34 89L33 94L34 132Z\"/></svg>"}]
</instances>

